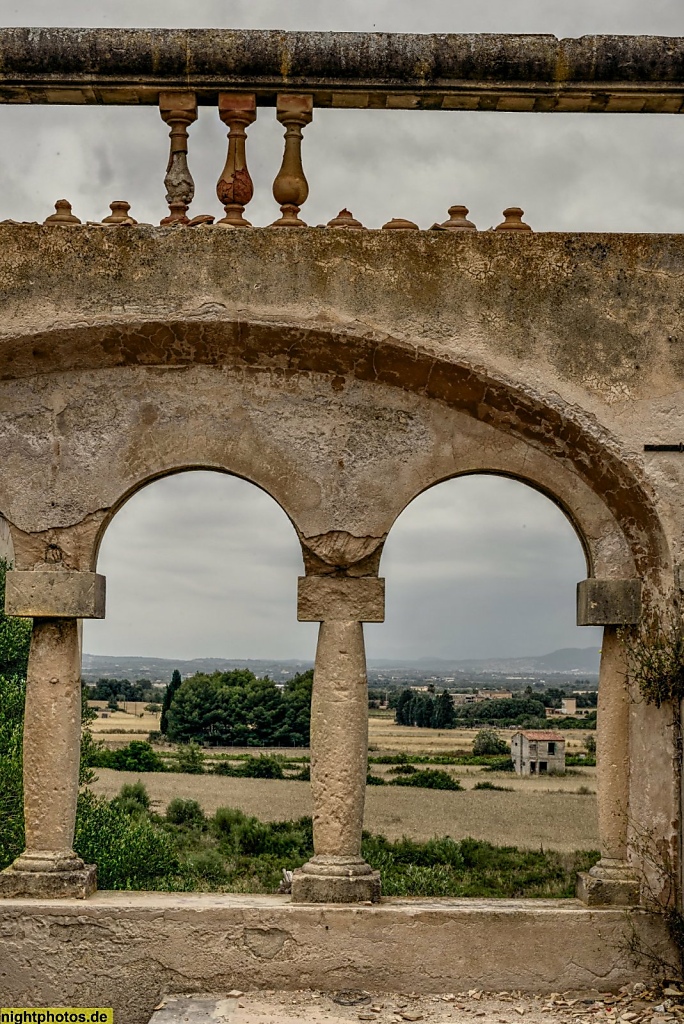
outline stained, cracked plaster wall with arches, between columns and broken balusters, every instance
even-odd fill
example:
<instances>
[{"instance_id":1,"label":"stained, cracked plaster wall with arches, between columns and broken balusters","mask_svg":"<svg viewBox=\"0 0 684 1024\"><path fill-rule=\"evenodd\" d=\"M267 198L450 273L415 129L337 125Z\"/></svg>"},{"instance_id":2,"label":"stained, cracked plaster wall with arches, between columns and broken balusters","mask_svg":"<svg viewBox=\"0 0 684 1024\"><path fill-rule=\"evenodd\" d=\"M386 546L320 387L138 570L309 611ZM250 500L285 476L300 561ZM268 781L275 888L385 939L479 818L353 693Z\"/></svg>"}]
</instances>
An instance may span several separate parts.
<instances>
[{"instance_id":1,"label":"stained, cracked plaster wall with arches, between columns and broken balusters","mask_svg":"<svg viewBox=\"0 0 684 1024\"><path fill-rule=\"evenodd\" d=\"M493 471L564 508L590 572L667 591L684 455L643 449L684 440L683 272L681 236L0 224L16 564L94 568L128 496L205 467L268 490L309 571L362 575L413 497ZM631 750L677 855L667 710Z\"/></svg>"}]
</instances>

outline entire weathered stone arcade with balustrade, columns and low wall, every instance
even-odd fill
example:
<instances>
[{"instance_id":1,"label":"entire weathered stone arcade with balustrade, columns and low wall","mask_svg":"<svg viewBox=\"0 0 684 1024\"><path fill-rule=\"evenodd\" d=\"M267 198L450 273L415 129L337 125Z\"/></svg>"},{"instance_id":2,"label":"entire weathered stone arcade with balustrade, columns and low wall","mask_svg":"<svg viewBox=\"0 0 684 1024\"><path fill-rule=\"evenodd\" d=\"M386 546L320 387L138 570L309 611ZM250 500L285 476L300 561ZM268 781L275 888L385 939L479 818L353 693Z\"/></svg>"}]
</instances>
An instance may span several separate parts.
<instances>
[{"instance_id":1,"label":"entire weathered stone arcade with balustrade, columns and low wall","mask_svg":"<svg viewBox=\"0 0 684 1024\"><path fill-rule=\"evenodd\" d=\"M348 211L308 227L304 131L326 108L676 115L684 40L2 29L0 56L0 102L136 104L171 130L160 225L123 200L101 224L66 200L44 223L0 223L0 551L6 610L33 620L0 1001L113 1006L141 1024L179 990L634 981L631 928L667 946L661 916L626 912L644 880L667 889L635 837L656 837L672 899L682 890L677 722L640 699L628 653L683 580L684 238L538 233L517 208L478 231L456 205L430 229L364 229ZM199 105L228 129L216 223L188 215ZM257 115L286 140L281 216L252 227ZM298 615L319 624L314 855L291 896L102 893L73 848L79 629L105 614L100 542L132 495L188 468L263 488L301 546ZM601 857L574 900L387 899L361 855L364 624L383 621L383 546L414 498L469 473L547 495L586 556L578 623L603 629Z\"/></svg>"}]
</instances>

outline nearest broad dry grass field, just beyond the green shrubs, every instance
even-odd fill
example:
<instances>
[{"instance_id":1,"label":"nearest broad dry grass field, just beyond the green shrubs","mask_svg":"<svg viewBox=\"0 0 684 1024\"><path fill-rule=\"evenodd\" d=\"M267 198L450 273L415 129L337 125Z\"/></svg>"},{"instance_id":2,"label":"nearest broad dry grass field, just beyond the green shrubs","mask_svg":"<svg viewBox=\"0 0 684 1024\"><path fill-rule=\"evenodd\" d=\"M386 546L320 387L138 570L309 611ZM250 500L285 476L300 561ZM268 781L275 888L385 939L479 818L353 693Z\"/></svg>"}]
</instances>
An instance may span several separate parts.
<instances>
[{"instance_id":1,"label":"nearest broad dry grass field, just beyond the green shrubs","mask_svg":"<svg viewBox=\"0 0 684 1024\"><path fill-rule=\"evenodd\" d=\"M468 775L467 772L472 773ZM97 769L96 793L114 797L124 782L140 779L155 810L164 810L174 797L198 800L213 813L217 807L239 807L264 821L297 818L311 813L306 782L218 775L116 772ZM477 781L474 769L456 769L466 786ZM583 777L584 776L584 777ZM580 785L594 788L591 769L563 779L515 779L508 774L480 775L512 793L474 791L452 793L399 786L370 786L366 799L366 827L389 839L409 836L427 840L448 835L471 836L501 845L529 849L592 850L598 845L596 798L576 794ZM570 791L570 792L568 792Z\"/></svg>"}]
</instances>

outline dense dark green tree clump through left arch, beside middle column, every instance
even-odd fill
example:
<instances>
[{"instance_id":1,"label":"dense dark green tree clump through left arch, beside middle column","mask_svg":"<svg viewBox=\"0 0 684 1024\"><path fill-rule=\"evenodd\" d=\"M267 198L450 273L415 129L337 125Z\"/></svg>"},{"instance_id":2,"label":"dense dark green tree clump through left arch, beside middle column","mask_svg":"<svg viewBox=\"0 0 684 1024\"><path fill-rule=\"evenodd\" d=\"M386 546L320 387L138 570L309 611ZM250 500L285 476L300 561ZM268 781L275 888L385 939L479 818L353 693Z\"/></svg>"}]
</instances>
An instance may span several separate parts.
<instances>
[{"instance_id":1,"label":"dense dark green tree clump through left arch, beside middle column","mask_svg":"<svg viewBox=\"0 0 684 1024\"><path fill-rule=\"evenodd\" d=\"M312 670L294 676L284 690L247 669L198 673L170 698L168 737L208 746L306 746L312 683Z\"/></svg>"}]
</instances>

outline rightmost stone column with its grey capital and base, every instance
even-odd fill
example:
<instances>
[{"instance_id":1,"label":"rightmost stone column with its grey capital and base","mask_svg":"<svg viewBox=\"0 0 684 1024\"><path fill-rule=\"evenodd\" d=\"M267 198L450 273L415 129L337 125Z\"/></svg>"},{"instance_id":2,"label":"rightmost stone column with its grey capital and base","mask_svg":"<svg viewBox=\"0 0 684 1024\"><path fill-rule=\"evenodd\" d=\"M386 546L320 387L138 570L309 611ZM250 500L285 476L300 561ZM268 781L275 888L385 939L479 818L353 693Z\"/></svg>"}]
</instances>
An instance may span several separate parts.
<instances>
[{"instance_id":1,"label":"rightmost stone column with its grey capital and base","mask_svg":"<svg viewBox=\"0 0 684 1024\"><path fill-rule=\"evenodd\" d=\"M578 597L578 624L603 626L596 728L601 859L579 874L578 897L590 906L630 906L639 902L639 883L628 859L630 693L618 628L638 622L641 585L633 580L587 580L580 584Z\"/></svg>"}]
</instances>

